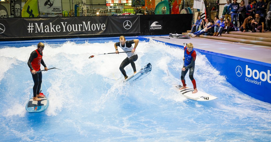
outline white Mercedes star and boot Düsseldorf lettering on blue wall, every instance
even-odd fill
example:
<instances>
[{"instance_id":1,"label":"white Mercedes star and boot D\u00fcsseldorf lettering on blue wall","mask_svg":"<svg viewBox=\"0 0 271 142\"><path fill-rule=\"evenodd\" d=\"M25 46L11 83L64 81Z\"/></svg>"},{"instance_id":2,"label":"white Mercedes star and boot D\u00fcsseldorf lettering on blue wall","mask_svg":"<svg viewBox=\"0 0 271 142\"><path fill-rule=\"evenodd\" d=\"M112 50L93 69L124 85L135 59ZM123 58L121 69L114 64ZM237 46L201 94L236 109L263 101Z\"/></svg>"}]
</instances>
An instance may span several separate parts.
<instances>
[{"instance_id":1,"label":"white Mercedes star and boot D\u00fcsseldorf lettering on blue wall","mask_svg":"<svg viewBox=\"0 0 271 142\"><path fill-rule=\"evenodd\" d=\"M242 68L241 66L237 66L235 69L235 73L238 77L240 77L242 75ZM248 65L246 65L246 78L245 81L250 82L250 83L254 83L257 85L261 85L262 82L268 82L271 83L270 80L271 74L270 74L270 70L267 70L267 73L264 71L259 72L257 69L251 69L249 68ZM253 79L251 79L253 78ZM259 81L259 79L261 81Z\"/></svg>"}]
</instances>

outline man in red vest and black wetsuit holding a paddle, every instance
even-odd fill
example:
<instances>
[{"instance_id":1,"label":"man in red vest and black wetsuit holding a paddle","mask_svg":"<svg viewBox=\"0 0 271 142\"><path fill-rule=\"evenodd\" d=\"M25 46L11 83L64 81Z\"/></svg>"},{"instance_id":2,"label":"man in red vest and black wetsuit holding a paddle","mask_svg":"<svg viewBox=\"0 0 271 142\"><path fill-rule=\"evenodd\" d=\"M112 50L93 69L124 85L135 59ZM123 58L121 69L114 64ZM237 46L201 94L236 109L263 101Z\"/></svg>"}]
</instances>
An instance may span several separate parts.
<instances>
[{"instance_id":1,"label":"man in red vest and black wetsuit holding a paddle","mask_svg":"<svg viewBox=\"0 0 271 142\"><path fill-rule=\"evenodd\" d=\"M42 73L38 72L40 70L40 64L44 66L44 69L47 71L48 68L46 67L43 59L42 59L42 51L44 49L43 43L38 43L38 48L34 50L28 59L27 65L30 68L32 78L34 81L33 86L33 100L34 101L41 101L38 97L44 98L44 96L40 95L40 88L41 88L41 82L42 82Z\"/></svg>"}]
</instances>

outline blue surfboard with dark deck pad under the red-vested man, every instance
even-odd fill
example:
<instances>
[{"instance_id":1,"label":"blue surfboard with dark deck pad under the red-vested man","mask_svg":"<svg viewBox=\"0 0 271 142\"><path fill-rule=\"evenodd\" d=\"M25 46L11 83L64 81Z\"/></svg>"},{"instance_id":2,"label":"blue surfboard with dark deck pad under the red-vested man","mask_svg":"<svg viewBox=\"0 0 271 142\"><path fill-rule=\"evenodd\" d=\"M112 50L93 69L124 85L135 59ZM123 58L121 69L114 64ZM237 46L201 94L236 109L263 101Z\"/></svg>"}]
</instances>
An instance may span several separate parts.
<instances>
[{"instance_id":1,"label":"blue surfboard with dark deck pad under the red-vested man","mask_svg":"<svg viewBox=\"0 0 271 142\"><path fill-rule=\"evenodd\" d=\"M49 100L47 97L43 93L40 93L40 95L44 96L44 98L39 98L41 101L33 101L33 97L28 100L25 105L25 110L27 112L43 112L49 107Z\"/></svg>"}]
</instances>

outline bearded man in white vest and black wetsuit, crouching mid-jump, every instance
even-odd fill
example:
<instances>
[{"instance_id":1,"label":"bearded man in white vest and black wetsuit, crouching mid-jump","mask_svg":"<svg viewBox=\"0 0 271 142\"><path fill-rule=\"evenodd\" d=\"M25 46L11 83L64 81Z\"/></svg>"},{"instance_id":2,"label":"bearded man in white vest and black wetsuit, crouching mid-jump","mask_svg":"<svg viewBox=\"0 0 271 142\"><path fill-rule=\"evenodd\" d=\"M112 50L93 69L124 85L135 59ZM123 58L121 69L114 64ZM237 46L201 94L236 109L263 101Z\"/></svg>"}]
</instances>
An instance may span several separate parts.
<instances>
[{"instance_id":1,"label":"bearded man in white vest and black wetsuit, crouching mid-jump","mask_svg":"<svg viewBox=\"0 0 271 142\"><path fill-rule=\"evenodd\" d=\"M135 51L135 48L138 45L139 40L135 39L135 40L129 40L126 41L124 36L120 36L120 42L117 42L114 44L115 46L115 53L118 54L118 46L121 47L121 49L123 51L131 51L131 52L127 52L127 57L122 61L121 65L120 65L120 71L122 73L122 75L124 75L124 78L127 79L128 76L126 75L126 72L124 70L124 67L126 67L128 64L131 63L131 66L134 70L134 73L136 73L136 69L135 69L135 61L137 60L138 56L137 53ZM133 47L132 44L135 44L135 46Z\"/></svg>"}]
</instances>

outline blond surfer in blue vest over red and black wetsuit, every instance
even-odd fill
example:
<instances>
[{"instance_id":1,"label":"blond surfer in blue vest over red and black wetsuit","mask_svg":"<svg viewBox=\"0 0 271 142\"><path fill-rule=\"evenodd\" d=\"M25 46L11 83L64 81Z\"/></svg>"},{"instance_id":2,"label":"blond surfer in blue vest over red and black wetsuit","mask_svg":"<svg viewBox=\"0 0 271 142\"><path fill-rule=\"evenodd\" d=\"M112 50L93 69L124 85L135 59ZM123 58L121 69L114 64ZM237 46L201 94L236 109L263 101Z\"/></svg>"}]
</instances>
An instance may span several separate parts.
<instances>
[{"instance_id":1,"label":"blond surfer in blue vest over red and black wetsuit","mask_svg":"<svg viewBox=\"0 0 271 142\"><path fill-rule=\"evenodd\" d=\"M193 77L193 74L194 74L194 70L195 70L195 60L196 60L197 54L196 54L196 51L193 49L192 43L188 43L187 46L185 46L184 50L185 50L184 57L183 57L184 65L182 67L182 73L181 73L181 81L183 83L183 87L181 87L180 90L186 88L185 75L189 69L189 71L190 71L189 78L192 81L192 84L194 87L194 91L192 93L196 93L196 92L198 92L198 89L197 89L196 81Z\"/></svg>"}]
</instances>

